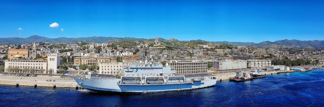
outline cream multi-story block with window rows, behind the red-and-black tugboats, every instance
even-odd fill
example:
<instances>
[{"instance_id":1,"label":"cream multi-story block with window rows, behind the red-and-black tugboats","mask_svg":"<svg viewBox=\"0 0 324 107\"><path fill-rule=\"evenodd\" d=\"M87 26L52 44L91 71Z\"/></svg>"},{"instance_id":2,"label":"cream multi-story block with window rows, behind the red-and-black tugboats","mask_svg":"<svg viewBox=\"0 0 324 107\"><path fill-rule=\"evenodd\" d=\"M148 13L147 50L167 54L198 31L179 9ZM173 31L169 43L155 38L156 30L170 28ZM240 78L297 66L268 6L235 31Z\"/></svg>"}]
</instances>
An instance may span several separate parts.
<instances>
[{"instance_id":1,"label":"cream multi-story block with window rows, behind the red-and-black tugboats","mask_svg":"<svg viewBox=\"0 0 324 107\"><path fill-rule=\"evenodd\" d=\"M268 60L248 60L247 65L249 69L266 69L271 65L271 61Z\"/></svg>"}]
</instances>

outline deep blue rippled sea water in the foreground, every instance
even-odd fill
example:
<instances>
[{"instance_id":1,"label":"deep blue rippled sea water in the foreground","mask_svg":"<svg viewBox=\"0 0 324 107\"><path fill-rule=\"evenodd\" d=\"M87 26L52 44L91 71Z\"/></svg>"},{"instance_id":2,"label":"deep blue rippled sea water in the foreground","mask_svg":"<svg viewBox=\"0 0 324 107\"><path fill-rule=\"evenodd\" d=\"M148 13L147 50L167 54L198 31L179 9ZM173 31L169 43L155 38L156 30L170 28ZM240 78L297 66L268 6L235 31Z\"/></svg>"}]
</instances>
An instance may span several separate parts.
<instances>
[{"instance_id":1,"label":"deep blue rippled sea water in the foreground","mask_svg":"<svg viewBox=\"0 0 324 107\"><path fill-rule=\"evenodd\" d=\"M324 105L324 70L267 75L215 87L142 95L77 92L72 88L0 85L7 106L319 106Z\"/></svg>"}]
</instances>

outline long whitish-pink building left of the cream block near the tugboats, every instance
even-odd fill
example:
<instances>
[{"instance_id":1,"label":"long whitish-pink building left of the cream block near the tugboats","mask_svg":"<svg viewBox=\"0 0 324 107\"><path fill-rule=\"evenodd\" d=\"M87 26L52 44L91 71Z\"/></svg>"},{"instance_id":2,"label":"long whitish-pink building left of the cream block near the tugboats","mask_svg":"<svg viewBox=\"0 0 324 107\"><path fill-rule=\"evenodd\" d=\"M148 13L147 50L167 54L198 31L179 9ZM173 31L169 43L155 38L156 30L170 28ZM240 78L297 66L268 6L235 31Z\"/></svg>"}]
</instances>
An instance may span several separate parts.
<instances>
[{"instance_id":1,"label":"long whitish-pink building left of the cream block near the tugboats","mask_svg":"<svg viewBox=\"0 0 324 107\"><path fill-rule=\"evenodd\" d=\"M221 61L207 61L213 63L217 70L239 70L247 68L246 60L221 60Z\"/></svg>"}]
</instances>

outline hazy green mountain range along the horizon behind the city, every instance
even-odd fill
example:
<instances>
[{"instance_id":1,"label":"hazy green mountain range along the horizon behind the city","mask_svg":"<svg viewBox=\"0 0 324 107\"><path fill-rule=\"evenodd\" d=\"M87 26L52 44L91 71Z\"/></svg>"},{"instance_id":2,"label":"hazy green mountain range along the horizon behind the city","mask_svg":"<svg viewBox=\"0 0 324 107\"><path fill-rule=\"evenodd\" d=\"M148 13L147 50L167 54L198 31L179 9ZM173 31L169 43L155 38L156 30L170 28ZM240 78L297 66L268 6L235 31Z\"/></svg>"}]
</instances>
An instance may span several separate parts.
<instances>
[{"instance_id":1,"label":"hazy green mountain range along the horizon behind the city","mask_svg":"<svg viewBox=\"0 0 324 107\"><path fill-rule=\"evenodd\" d=\"M9 38L0 38L0 44L26 44L32 42L51 42L51 43L69 43L69 42L88 42L88 43L119 43L121 41L145 41L145 43L153 43L154 39L144 39L144 38L133 38L133 37L103 37L103 36L93 36L93 37L79 37L79 38L48 38L42 37L38 35L32 35L27 38L19 38L19 37L9 37ZM188 43L189 41L179 41L177 39L163 39L159 38L164 44L177 44L177 43ZM209 42L203 40L193 40L196 42L203 42L203 43L212 43L212 44L232 44L233 46L251 46L254 48L277 48L277 47L297 47L297 48L304 48L304 49L324 49L324 41L313 40L313 41L300 41L300 40L278 40L274 42L264 41L261 43L253 43L253 42Z\"/></svg>"}]
</instances>

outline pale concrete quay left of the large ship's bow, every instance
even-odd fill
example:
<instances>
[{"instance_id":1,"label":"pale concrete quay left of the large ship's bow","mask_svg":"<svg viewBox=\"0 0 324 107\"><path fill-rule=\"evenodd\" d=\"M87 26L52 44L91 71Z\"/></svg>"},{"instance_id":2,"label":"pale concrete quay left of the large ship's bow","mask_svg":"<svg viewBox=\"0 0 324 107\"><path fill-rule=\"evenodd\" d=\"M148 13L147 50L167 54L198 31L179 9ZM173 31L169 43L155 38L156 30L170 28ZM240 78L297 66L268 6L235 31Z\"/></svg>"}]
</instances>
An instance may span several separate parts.
<instances>
[{"instance_id":1,"label":"pale concrete quay left of the large ship's bow","mask_svg":"<svg viewBox=\"0 0 324 107\"><path fill-rule=\"evenodd\" d=\"M47 82L46 80L52 80ZM55 80L55 82L53 82ZM5 76L0 75L0 84L2 85L17 85L18 86L35 86L37 87L80 87L72 78L60 78L59 76L37 76L37 77L21 77L21 76Z\"/></svg>"}]
</instances>

